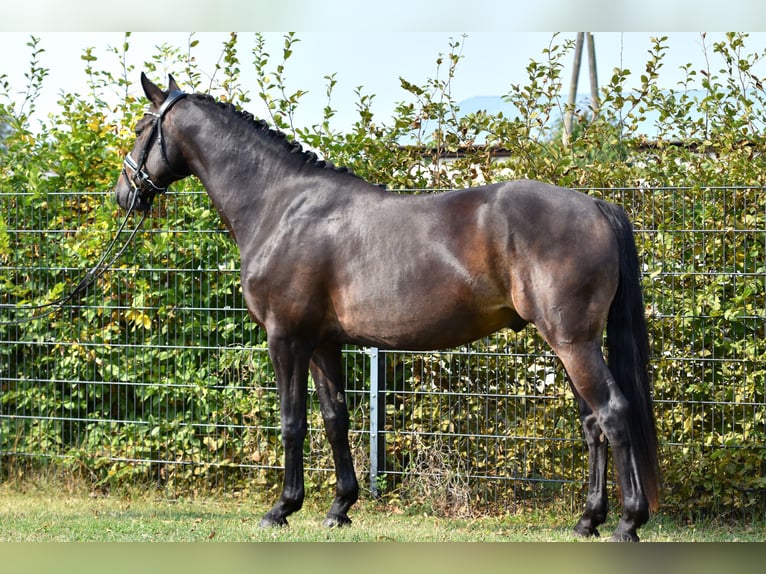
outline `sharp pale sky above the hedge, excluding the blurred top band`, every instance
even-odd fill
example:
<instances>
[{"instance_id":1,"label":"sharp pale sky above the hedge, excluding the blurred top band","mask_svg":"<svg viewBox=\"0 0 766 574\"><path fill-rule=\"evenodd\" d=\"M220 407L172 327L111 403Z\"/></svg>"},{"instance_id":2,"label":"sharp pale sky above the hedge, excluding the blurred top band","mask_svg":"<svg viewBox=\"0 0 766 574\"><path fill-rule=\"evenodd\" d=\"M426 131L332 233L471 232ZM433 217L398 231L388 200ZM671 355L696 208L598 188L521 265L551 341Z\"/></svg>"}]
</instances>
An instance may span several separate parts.
<instances>
[{"instance_id":1,"label":"sharp pale sky above the hedge, excluding the blurred top band","mask_svg":"<svg viewBox=\"0 0 766 574\"><path fill-rule=\"evenodd\" d=\"M278 63L283 47L283 32L262 32L272 57L272 68ZM465 36L464 36L465 34ZM84 94L87 91L85 64L81 59L85 48L92 47L99 58L97 67L119 71L117 57L110 53L110 46L124 41L122 32L35 32L40 38L40 64L48 68L43 95L38 101L39 114L45 115L57 109L57 100L63 92ZM342 34L309 30L296 34L300 40L294 46L294 55L288 61L285 77L291 90L306 90L301 100L296 123L309 126L322 120L322 109L327 103L325 76L335 74L338 85L334 90L332 105L337 110L334 119L336 129L346 129L357 119L355 88L362 86L366 94L374 94L373 112L379 121L390 119L397 102L408 98L400 87L399 78L413 83L424 83L437 74L436 60L440 54L450 51L450 43L461 44L462 60L458 65L452 91L456 101L477 96L503 96L512 84L526 83L526 67L530 59L542 60L543 51L551 43L562 44L574 40L576 33L563 32L554 36L551 32L497 32L497 31L347 31ZM723 33L699 32L595 32L596 61L600 83L608 81L614 68L632 72L634 85L638 85L641 73L652 46L652 37L667 36L668 50L664 66L660 70L660 86L678 88L684 73L681 66L692 63L696 69L704 68L707 58L715 70L721 61L713 54L713 44L724 38ZM157 46L169 44L184 51L190 38L199 41L194 48L201 69L212 74L218 61L225 32L136 32L129 39L130 63L136 66L134 89L140 93L138 75L142 63L157 52ZM0 54L5 54L0 75L5 75L14 89L24 88L24 74L29 66L30 48L26 43L29 32L0 32ZM250 91L252 102L247 109L256 116L264 117L265 107L256 102L257 86L252 64L252 48L255 34L239 34L238 52L241 59L242 83ZM746 41L746 51L764 52L766 33L751 33ZM9 58L7 55L13 54ZM565 85L571 75L573 57L565 60L563 72ZM588 92L588 58L583 54L580 76L580 93ZM446 71L442 66L442 75ZM763 63L753 70L759 77L766 76ZM182 73L176 78L183 88ZM155 76L160 85L166 78ZM629 82L629 87L631 84Z\"/></svg>"}]
</instances>

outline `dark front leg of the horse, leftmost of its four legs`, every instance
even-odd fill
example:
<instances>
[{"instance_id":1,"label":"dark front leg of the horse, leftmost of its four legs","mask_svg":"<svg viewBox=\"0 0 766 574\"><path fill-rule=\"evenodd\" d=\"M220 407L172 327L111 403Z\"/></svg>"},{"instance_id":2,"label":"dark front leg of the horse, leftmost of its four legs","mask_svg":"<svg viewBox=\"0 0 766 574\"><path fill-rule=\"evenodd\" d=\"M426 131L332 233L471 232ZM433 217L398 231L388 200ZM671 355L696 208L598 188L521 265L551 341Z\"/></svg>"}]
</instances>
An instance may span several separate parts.
<instances>
[{"instance_id":1,"label":"dark front leg of the horse, leftmost of its four legs","mask_svg":"<svg viewBox=\"0 0 766 574\"><path fill-rule=\"evenodd\" d=\"M306 438L306 393L311 350L302 341L269 335L269 355L279 392L285 474L282 495L260 526L287 526L287 516L300 510L305 496L303 442Z\"/></svg>"}]
</instances>

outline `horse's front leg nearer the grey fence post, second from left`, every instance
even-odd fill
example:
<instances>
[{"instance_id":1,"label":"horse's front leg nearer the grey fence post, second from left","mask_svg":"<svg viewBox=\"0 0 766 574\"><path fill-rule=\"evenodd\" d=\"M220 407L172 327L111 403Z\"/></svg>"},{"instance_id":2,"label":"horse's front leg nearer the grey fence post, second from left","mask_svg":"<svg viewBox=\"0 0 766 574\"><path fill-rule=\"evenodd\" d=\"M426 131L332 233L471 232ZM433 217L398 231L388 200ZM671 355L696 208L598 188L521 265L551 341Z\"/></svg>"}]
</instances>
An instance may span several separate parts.
<instances>
[{"instance_id":1,"label":"horse's front leg nearer the grey fence post, second from left","mask_svg":"<svg viewBox=\"0 0 766 574\"><path fill-rule=\"evenodd\" d=\"M340 345L333 343L317 348L311 357L310 369L335 462L335 500L324 525L345 526L351 524L348 510L359 498L359 483L348 442L349 417Z\"/></svg>"}]
</instances>

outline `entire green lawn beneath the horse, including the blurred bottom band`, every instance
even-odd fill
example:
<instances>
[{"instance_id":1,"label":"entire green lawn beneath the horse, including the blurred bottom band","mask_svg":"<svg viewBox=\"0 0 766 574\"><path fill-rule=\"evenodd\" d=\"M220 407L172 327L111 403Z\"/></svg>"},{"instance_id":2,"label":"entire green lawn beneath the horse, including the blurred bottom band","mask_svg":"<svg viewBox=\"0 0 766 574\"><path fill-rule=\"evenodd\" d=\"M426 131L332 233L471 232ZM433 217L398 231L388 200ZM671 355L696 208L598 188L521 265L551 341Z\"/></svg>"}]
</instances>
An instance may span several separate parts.
<instances>
[{"instance_id":1,"label":"entire green lawn beneath the horse, including the blurred bottom band","mask_svg":"<svg viewBox=\"0 0 766 574\"><path fill-rule=\"evenodd\" d=\"M557 511L448 519L362 500L350 528L328 530L321 525L327 503L309 500L289 528L261 529L268 508L261 501L170 501L145 492L92 497L67 488L0 486L0 572L760 574L766 563L764 544L539 544L579 541L571 534L577 517ZM641 536L648 542L762 542L766 525L690 525L659 515Z\"/></svg>"}]
</instances>

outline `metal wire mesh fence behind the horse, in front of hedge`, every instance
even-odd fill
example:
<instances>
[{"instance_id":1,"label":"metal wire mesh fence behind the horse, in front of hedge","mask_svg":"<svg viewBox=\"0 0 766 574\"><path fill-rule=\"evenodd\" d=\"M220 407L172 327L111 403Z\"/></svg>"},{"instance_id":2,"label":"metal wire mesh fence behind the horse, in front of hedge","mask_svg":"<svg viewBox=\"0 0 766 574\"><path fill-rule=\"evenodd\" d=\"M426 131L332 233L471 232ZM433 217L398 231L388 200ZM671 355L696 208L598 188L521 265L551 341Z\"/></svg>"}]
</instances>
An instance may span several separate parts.
<instances>
[{"instance_id":1,"label":"metal wire mesh fence behind the horse, in front of hedge","mask_svg":"<svg viewBox=\"0 0 766 574\"><path fill-rule=\"evenodd\" d=\"M666 484L670 498L708 492L697 468L731 475L722 484L733 489L711 487L716 507L758 497L762 507L763 190L584 191L622 205L635 224L661 458L690 469L688 484ZM79 262L95 261L116 228L93 215L116 217L110 201L0 192L3 319L76 284ZM204 193L160 203L123 261L76 305L0 326L5 473L47 461L105 485L281 484L276 387L265 335L244 308L236 247ZM587 456L573 396L532 327L438 353L349 348L344 357L352 450L372 494L440 501L453 514L581 503ZM728 453L754 450L752 468L716 466L741 466ZM309 491L332 484L313 394L305 454Z\"/></svg>"}]
</instances>

